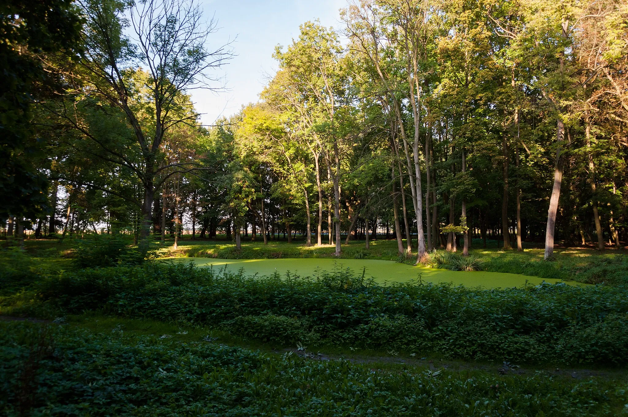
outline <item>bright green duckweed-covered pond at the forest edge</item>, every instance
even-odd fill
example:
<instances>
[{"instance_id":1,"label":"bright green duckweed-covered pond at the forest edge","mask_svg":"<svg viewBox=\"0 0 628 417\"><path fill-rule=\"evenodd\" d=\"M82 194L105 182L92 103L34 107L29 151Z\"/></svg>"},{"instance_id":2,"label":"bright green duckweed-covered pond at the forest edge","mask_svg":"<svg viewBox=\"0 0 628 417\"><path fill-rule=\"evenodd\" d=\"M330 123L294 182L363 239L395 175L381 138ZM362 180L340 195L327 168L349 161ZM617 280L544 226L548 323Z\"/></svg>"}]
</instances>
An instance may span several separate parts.
<instances>
[{"instance_id":1,"label":"bright green duckweed-covered pond at the forest edge","mask_svg":"<svg viewBox=\"0 0 628 417\"><path fill-rule=\"evenodd\" d=\"M199 267L226 268L237 272L240 269L247 275L272 275L279 273L282 276L317 276L317 271L333 271L335 269L350 268L361 274L365 269L367 278L374 278L377 283L407 282L412 279L421 279L429 283L452 283L468 287L484 288L511 288L528 284L560 283L561 279L538 278L509 273L484 271L449 271L448 269L422 268L408 264L379 259L328 259L328 258L298 258L298 259L218 259L207 257L165 258L175 262L193 263ZM583 285L571 281L566 284Z\"/></svg>"}]
</instances>

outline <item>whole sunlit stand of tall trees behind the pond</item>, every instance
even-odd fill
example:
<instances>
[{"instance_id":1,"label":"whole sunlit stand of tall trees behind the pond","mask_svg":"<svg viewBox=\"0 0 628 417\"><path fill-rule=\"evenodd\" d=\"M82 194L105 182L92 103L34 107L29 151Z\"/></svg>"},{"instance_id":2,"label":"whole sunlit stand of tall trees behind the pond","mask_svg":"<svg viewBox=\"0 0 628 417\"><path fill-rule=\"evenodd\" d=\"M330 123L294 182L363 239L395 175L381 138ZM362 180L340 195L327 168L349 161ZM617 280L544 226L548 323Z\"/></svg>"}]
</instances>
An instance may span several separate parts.
<instances>
[{"instance_id":1,"label":"whole sunlit stand of tall trees behind the pond","mask_svg":"<svg viewBox=\"0 0 628 417\"><path fill-rule=\"evenodd\" d=\"M219 88L232 52L204 49L214 23L190 7L131 24L86 3L82 28L57 28L76 43L14 74L29 97L6 97L5 235L298 232L340 254L341 235L379 230L420 261L474 237L544 242L546 259L625 245L622 2L349 4L344 27L277 46L259 102L214 126L187 91Z\"/></svg>"}]
</instances>

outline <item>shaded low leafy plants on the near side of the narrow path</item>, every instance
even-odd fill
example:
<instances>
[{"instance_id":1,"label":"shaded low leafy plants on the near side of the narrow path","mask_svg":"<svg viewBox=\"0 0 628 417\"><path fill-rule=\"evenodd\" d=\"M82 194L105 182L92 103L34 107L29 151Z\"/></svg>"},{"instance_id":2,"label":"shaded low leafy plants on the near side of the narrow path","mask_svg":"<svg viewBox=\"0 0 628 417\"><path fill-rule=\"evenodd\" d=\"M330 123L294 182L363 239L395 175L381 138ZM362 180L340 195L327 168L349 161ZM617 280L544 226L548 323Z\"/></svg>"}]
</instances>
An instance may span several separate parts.
<instances>
[{"instance_id":1,"label":"shaded low leafy plants on the near side of the narrow path","mask_svg":"<svg viewBox=\"0 0 628 417\"><path fill-rule=\"evenodd\" d=\"M373 369L29 323L0 323L6 416L619 415L625 382Z\"/></svg>"}]
</instances>

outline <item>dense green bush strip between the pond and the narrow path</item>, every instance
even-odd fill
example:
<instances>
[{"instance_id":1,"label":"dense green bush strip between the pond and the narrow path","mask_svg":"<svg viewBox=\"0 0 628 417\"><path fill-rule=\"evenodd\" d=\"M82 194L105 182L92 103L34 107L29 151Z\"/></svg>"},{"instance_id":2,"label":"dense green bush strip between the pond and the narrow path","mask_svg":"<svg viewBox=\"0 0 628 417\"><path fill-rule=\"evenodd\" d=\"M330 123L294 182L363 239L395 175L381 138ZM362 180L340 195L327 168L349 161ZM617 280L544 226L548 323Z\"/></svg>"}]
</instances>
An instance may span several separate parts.
<instances>
[{"instance_id":1,"label":"dense green bush strip between the pond and the narrow path","mask_svg":"<svg viewBox=\"0 0 628 417\"><path fill-rule=\"evenodd\" d=\"M268 338L256 332L271 331L273 322L259 320L274 315L296 318L303 332L318 333L328 344L474 359L624 364L626 295L622 288L565 284L508 290L378 286L350 271L284 279L151 263L48 278L36 298L73 313L98 308L128 317L232 323L237 332L248 326L251 337ZM286 332L281 340L291 337L300 336Z\"/></svg>"}]
</instances>

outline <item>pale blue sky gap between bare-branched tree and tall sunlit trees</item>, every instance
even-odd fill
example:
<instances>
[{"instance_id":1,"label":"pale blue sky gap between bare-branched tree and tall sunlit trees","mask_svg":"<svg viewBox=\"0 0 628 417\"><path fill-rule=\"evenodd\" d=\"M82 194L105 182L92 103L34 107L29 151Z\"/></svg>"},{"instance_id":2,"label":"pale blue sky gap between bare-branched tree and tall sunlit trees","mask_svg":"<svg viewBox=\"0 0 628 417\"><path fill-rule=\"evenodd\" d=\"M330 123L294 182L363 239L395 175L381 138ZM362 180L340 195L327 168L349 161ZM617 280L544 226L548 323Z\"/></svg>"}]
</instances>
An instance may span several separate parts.
<instances>
[{"instance_id":1,"label":"pale blue sky gap between bare-branched tree and tall sunlit trees","mask_svg":"<svg viewBox=\"0 0 628 417\"><path fill-rule=\"evenodd\" d=\"M325 26L341 28L338 9L345 4L345 0L200 0L204 15L214 15L218 21L219 30L210 35L208 46L215 48L236 38L232 48L237 54L215 72L224 77L228 91L191 92L197 111L203 113L203 124L212 124L217 117L230 116L243 104L256 102L268 76L277 68L272 57L274 46L289 45L298 36L299 25L308 20L320 19Z\"/></svg>"}]
</instances>

